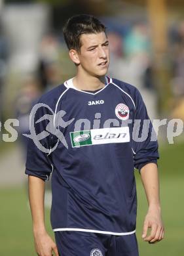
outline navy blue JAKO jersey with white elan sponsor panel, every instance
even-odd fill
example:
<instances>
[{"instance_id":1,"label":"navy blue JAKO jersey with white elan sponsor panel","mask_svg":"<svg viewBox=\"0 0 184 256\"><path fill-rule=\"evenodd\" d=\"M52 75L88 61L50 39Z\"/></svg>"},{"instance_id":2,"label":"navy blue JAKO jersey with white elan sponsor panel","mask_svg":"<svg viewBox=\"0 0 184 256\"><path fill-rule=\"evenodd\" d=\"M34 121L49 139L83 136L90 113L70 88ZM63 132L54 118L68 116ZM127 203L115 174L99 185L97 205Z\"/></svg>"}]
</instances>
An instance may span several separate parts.
<instances>
[{"instance_id":1,"label":"navy blue JAKO jersey with white elan sponsor panel","mask_svg":"<svg viewBox=\"0 0 184 256\"><path fill-rule=\"evenodd\" d=\"M134 168L158 159L152 124L143 131L149 117L138 89L109 79L98 91L81 91L69 79L39 103L35 134L47 151L29 140L26 174L46 181L52 173L53 230L134 233Z\"/></svg>"}]
</instances>

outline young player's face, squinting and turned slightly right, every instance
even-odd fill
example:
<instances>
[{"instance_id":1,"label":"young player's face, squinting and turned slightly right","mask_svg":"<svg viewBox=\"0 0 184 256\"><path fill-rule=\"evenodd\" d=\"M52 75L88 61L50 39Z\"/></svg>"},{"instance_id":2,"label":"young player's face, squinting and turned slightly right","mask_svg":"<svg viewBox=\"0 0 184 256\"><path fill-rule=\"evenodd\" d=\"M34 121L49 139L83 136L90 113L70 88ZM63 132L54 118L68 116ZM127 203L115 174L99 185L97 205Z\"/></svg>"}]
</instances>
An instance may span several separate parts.
<instances>
[{"instance_id":1,"label":"young player's face, squinting and turned slightly right","mask_svg":"<svg viewBox=\"0 0 184 256\"><path fill-rule=\"evenodd\" d=\"M107 74L109 67L109 41L104 32L83 34L78 53L80 68L96 77Z\"/></svg>"}]
</instances>

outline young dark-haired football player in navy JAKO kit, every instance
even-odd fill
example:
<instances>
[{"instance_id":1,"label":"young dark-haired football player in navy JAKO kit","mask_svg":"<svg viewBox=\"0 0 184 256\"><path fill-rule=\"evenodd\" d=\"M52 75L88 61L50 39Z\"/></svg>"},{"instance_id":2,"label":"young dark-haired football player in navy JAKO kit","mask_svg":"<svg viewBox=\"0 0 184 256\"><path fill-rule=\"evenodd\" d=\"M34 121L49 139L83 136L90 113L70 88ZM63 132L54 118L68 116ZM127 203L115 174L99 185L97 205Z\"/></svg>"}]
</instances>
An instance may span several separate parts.
<instances>
[{"instance_id":1,"label":"young dark-haired football player in navy JAKO kit","mask_svg":"<svg viewBox=\"0 0 184 256\"><path fill-rule=\"evenodd\" d=\"M52 251L62 256L137 256L134 167L149 203L143 239L155 243L164 236L152 125L144 131L143 120L149 117L136 87L105 76L109 43L103 24L93 16L73 16L64 37L77 74L41 97L33 123L40 144L33 139L28 147L36 251L40 256ZM44 223L50 173L57 246Z\"/></svg>"}]
</instances>

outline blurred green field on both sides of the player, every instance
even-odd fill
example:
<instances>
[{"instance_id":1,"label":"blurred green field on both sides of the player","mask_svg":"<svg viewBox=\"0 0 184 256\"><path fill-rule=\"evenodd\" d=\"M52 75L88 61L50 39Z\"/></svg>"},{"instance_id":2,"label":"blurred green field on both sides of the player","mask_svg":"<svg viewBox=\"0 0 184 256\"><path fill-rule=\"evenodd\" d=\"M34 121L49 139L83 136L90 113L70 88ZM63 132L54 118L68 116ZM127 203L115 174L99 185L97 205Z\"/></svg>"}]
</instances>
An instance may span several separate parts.
<instances>
[{"instance_id":1,"label":"blurred green field on both sides of the player","mask_svg":"<svg viewBox=\"0 0 184 256\"><path fill-rule=\"evenodd\" d=\"M141 179L136 171L138 189L137 237L140 256L184 255L184 144L168 144L160 148L158 162L160 172L160 196L165 237L162 242L151 245L141 239L142 224L147 213L147 201ZM0 255L33 256L31 213L28 206L27 186L0 190ZM46 226L50 227L50 212L46 209ZM54 237L54 236L53 236Z\"/></svg>"}]
</instances>

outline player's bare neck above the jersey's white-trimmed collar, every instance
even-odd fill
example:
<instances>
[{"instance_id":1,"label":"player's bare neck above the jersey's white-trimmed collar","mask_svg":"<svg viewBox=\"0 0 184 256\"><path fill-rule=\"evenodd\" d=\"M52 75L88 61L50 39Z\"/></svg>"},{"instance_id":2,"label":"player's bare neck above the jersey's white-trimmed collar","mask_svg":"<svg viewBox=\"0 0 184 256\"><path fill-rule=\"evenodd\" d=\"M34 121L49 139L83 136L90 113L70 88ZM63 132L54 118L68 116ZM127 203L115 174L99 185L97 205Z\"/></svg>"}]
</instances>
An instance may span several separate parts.
<instances>
[{"instance_id":1,"label":"player's bare neck above the jersey's white-trimmed collar","mask_svg":"<svg viewBox=\"0 0 184 256\"><path fill-rule=\"evenodd\" d=\"M73 85L79 90L96 91L105 86L105 75L103 77L76 75L73 78Z\"/></svg>"}]
</instances>

